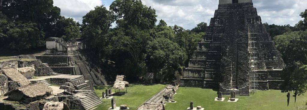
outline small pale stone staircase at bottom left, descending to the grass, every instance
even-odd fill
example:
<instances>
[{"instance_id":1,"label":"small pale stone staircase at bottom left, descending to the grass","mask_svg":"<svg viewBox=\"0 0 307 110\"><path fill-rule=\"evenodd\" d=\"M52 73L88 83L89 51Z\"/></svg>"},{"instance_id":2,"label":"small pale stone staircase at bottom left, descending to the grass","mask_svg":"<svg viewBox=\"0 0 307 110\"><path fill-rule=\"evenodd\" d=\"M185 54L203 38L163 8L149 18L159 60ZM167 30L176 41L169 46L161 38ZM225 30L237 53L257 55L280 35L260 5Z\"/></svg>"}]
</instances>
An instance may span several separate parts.
<instances>
[{"instance_id":1,"label":"small pale stone staircase at bottom left, descending to the grass","mask_svg":"<svg viewBox=\"0 0 307 110\"><path fill-rule=\"evenodd\" d=\"M96 95L95 91L92 90L85 94L86 97L84 97L81 101L82 106L85 110L91 110L92 108L95 108L98 104L101 104L101 99Z\"/></svg>"}]
</instances>

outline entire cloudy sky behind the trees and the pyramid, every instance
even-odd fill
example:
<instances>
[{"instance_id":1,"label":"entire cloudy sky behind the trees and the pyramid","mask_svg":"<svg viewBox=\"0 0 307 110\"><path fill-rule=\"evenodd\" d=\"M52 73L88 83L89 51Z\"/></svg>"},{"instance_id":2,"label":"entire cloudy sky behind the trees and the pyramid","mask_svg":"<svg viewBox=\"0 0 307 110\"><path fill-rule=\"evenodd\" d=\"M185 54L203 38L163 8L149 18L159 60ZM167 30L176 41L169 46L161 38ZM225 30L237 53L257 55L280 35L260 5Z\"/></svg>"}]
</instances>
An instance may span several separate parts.
<instances>
[{"instance_id":1,"label":"entire cloudy sky behind the trees and the pyramid","mask_svg":"<svg viewBox=\"0 0 307 110\"><path fill-rule=\"evenodd\" d=\"M114 0L53 0L61 8L61 14L82 22L82 17L95 6L105 5L107 9ZM156 9L157 19L163 19L170 26L179 25L192 29L196 24L210 22L218 7L218 0L142 0L146 6ZM307 0L253 0L262 22L294 26L307 9Z\"/></svg>"}]
</instances>

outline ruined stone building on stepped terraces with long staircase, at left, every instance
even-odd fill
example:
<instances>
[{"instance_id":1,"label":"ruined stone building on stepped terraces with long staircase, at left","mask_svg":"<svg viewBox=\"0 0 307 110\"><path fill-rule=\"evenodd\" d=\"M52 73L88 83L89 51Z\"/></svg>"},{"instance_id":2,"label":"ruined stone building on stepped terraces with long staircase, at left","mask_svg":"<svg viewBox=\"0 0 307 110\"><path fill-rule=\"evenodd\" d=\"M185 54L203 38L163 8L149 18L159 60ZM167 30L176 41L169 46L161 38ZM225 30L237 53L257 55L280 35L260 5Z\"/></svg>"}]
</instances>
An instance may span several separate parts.
<instances>
[{"instance_id":1,"label":"ruined stone building on stepped terraces with long staircase, at left","mask_svg":"<svg viewBox=\"0 0 307 110\"><path fill-rule=\"evenodd\" d=\"M91 84L107 85L106 75L95 56L85 51L82 39L64 41L62 38L46 39L46 54L36 56L59 74L83 75Z\"/></svg>"}]
</instances>

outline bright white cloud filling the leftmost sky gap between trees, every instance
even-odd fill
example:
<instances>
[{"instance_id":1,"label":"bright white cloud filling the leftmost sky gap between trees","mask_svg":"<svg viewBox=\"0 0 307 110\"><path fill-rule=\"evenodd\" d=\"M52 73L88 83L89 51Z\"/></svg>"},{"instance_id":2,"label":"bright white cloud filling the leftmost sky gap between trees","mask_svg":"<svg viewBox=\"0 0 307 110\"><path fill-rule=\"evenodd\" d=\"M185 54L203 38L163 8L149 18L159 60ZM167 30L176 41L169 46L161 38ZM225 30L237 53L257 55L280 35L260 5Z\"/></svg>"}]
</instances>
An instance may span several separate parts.
<instances>
[{"instance_id":1,"label":"bright white cloud filling the leftmost sky gap between trees","mask_svg":"<svg viewBox=\"0 0 307 110\"><path fill-rule=\"evenodd\" d=\"M53 5L61 9L61 15L72 17L82 23L82 17L94 9L101 6L101 0L53 0Z\"/></svg>"}]
</instances>

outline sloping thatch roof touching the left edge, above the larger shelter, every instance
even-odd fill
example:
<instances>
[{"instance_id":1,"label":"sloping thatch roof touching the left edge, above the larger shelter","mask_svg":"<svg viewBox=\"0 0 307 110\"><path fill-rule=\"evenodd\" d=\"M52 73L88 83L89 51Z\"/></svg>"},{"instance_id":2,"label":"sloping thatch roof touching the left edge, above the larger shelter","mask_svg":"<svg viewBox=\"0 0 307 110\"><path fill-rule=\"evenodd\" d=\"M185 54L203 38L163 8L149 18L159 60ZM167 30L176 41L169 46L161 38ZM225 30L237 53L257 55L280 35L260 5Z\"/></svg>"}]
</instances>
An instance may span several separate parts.
<instances>
[{"instance_id":1,"label":"sloping thatch roof touching the left edge, above the larger shelter","mask_svg":"<svg viewBox=\"0 0 307 110\"><path fill-rule=\"evenodd\" d=\"M22 86L29 85L31 83L15 68L2 68L2 71L10 80L19 82Z\"/></svg>"}]
</instances>

